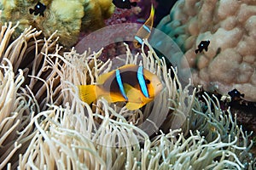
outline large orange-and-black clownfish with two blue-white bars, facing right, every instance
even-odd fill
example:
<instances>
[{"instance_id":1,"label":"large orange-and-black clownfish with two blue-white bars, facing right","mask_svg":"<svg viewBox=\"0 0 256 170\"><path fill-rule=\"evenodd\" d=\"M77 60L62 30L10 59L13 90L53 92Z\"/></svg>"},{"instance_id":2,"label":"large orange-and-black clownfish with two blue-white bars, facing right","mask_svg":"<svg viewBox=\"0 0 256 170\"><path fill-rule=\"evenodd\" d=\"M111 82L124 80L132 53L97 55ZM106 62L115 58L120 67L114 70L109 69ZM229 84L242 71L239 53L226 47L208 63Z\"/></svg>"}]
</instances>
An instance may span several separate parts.
<instances>
[{"instance_id":1,"label":"large orange-and-black clownfish with two blue-white bars, facing right","mask_svg":"<svg viewBox=\"0 0 256 170\"><path fill-rule=\"evenodd\" d=\"M138 65L124 65L98 77L96 85L80 85L79 97L87 104L99 98L108 103L125 101L128 110L137 110L160 94L163 86L152 72Z\"/></svg>"}]
</instances>

